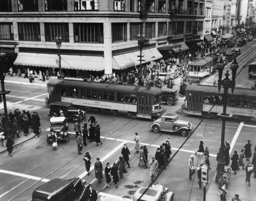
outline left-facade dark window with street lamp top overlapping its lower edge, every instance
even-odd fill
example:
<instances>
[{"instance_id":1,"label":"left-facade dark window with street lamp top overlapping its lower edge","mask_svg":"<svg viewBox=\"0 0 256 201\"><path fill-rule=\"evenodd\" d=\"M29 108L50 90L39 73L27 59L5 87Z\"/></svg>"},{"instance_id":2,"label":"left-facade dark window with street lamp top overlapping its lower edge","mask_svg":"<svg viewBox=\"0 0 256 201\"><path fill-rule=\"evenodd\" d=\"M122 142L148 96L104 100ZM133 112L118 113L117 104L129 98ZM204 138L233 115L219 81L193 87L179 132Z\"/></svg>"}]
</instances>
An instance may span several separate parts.
<instances>
[{"instance_id":1,"label":"left-facade dark window with street lamp top overlapping its lower edge","mask_svg":"<svg viewBox=\"0 0 256 201\"><path fill-rule=\"evenodd\" d=\"M46 41L54 41L57 36L62 37L63 42L69 42L68 23L45 23Z\"/></svg>"}]
</instances>

